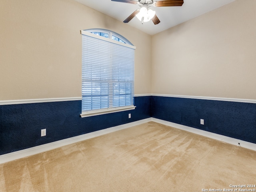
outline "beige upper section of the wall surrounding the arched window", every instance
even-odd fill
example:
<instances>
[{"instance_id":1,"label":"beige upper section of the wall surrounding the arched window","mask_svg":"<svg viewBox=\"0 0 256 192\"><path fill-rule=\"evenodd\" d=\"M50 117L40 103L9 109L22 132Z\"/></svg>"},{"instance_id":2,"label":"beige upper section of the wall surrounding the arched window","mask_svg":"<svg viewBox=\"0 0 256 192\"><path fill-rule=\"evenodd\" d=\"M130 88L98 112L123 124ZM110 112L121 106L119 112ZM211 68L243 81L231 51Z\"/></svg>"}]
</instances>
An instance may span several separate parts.
<instances>
[{"instance_id":1,"label":"beige upper section of the wall surrounding the arched window","mask_svg":"<svg viewBox=\"0 0 256 192\"><path fill-rule=\"evenodd\" d=\"M136 46L135 94L149 94L150 35L73 0L1 0L0 100L81 97L80 30L89 28Z\"/></svg>"}]
</instances>

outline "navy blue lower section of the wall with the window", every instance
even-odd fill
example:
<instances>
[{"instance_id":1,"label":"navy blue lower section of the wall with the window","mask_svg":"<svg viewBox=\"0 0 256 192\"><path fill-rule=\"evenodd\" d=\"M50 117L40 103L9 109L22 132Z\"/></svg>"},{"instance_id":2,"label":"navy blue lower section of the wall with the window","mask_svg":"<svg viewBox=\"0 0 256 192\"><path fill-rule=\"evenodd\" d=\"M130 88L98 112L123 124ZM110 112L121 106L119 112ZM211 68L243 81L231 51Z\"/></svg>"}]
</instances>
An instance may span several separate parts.
<instances>
[{"instance_id":1,"label":"navy blue lower section of the wall with the window","mask_svg":"<svg viewBox=\"0 0 256 192\"><path fill-rule=\"evenodd\" d=\"M151 96L135 97L135 110L87 118L80 117L81 102L0 106L0 155L151 117Z\"/></svg>"}]
</instances>

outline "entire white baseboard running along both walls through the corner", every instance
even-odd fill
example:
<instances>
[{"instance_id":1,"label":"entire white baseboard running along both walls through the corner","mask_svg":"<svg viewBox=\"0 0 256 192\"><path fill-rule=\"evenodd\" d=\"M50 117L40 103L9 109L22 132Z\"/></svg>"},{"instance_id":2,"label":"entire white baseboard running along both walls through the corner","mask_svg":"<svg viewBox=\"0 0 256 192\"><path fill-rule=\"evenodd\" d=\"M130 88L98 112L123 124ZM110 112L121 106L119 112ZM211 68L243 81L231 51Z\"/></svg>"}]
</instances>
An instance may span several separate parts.
<instances>
[{"instance_id":1,"label":"entire white baseboard running along both walls through the corner","mask_svg":"<svg viewBox=\"0 0 256 192\"><path fill-rule=\"evenodd\" d=\"M34 154L38 154L41 152L45 152L48 150L53 150L55 148L59 148L68 144L73 144L76 142L80 142L86 139L90 139L90 138L94 138L97 136L101 136L104 134L108 134L111 132L115 132L118 130L122 130L122 129L126 129L132 126L136 126L136 125L140 125L143 123L147 123L147 122L157 122L160 124L164 124L167 126L171 126L174 128L178 128L184 131L188 131L188 132L192 132L198 135L202 135L202 136L206 136L209 138L213 138L216 140L220 140L229 144L233 144L233 145L237 145L237 146L241 146L244 148L248 148L251 150L256 151L256 144L254 143L250 143L250 142L246 142L243 140L239 140L239 139L235 139L235 138L231 138L231 137L227 137L227 136L223 136L223 135L219 135L219 134L215 134L215 133L211 133L208 131L204 131L204 130L200 130L200 129L196 129L196 128L192 128L192 127L188 127L188 126L184 126L184 125L180 125L180 124L176 124L176 123L172 123L172 122L168 122L165 120L160 120L160 119L156 119L156 118L147 118L147 119L143 119L143 120L139 120L136 122L131 122L131 123L127 123L127 124L123 124L123 125L119 125L119 126L115 126L115 127L110 127L110 128L106 128L103 130L99 130L99 131L95 131L95 132L91 132L91 133L87 133L87 134L83 134L83 135L79 135L79 136L75 136L72 138L67 138L67 139L63 139L60 141L56 141L56 142L51 142L48 144L43 144L40 146L35 146L32 148L28 148L28 149L24 149L24 150L20 150L20 151L16 151L16 152L12 152L12 153L8 153L8 154L4 154L4 155L0 155L0 164L5 163L5 162L9 162L12 160L16 160L19 158L24 158L27 156L31 156ZM239 143L239 144L238 144Z\"/></svg>"}]
</instances>

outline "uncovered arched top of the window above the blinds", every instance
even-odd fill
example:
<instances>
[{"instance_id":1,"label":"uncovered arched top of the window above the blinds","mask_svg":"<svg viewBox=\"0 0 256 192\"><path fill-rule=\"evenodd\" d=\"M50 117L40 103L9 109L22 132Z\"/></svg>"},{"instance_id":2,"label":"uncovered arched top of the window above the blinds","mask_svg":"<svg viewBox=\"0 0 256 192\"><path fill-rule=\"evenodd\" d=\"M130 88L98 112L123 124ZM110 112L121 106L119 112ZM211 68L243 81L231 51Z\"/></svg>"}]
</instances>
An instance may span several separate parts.
<instances>
[{"instance_id":1,"label":"uncovered arched top of the window above the blinds","mask_svg":"<svg viewBox=\"0 0 256 192\"><path fill-rule=\"evenodd\" d=\"M84 31L90 32L92 34L96 34L96 35L99 35L99 36L102 36L102 37L105 37L105 38L109 38L109 39L112 39L112 40L115 40L115 41L118 41L118 42L121 42L121 43L125 43L125 44L129 44L129 45L133 46L133 44L128 39L123 37L122 35L120 35L120 34L118 34L116 32L107 30L107 29L95 28L95 29L86 29Z\"/></svg>"}]
</instances>

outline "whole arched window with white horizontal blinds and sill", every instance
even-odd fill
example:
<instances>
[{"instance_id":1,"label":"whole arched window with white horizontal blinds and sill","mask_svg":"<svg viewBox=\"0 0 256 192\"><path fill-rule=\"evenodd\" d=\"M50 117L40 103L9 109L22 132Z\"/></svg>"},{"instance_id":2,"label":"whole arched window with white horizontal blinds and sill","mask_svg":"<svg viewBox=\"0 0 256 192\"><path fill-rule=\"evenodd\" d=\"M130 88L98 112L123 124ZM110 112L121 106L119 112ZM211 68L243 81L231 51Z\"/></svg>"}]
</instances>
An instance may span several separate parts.
<instances>
[{"instance_id":1,"label":"whole arched window with white horizontal blinds and sill","mask_svg":"<svg viewBox=\"0 0 256 192\"><path fill-rule=\"evenodd\" d=\"M108 30L82 30L81 117L134 109L134 49Z\"/></svg>"}]
</instances>

